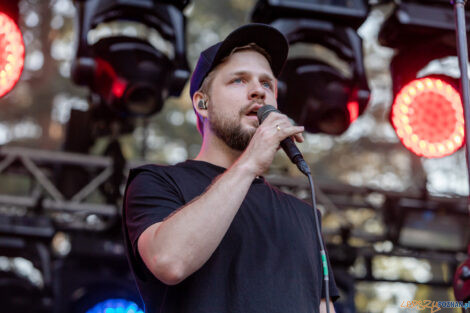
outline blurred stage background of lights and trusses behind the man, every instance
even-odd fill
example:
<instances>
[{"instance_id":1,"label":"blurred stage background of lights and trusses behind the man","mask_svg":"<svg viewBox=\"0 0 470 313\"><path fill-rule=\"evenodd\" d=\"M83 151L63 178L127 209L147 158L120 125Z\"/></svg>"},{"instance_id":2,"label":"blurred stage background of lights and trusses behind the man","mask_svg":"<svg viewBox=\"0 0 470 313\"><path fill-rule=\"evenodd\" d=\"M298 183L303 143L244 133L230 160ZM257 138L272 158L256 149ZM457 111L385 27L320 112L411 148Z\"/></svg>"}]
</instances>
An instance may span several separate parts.
<instances>
[{"instance_id":1,"label":"blurred stage background of lights and trusses behind the man","mask_svg":"<svg viewBox=\"0 0 470 313\"><path fill-rule=\"evenodd\" d=\"M470 299L470 267L459 267L469 188L450 3L169 3L0 1L8 312L142 309L120 232L128 169L197 155L190 72L202 50L250 21L291 43L279 107L307 129L298 146L316 182L337 312ZM311 200L284 153L266 177Z\"/></svg>"}]
</instances>

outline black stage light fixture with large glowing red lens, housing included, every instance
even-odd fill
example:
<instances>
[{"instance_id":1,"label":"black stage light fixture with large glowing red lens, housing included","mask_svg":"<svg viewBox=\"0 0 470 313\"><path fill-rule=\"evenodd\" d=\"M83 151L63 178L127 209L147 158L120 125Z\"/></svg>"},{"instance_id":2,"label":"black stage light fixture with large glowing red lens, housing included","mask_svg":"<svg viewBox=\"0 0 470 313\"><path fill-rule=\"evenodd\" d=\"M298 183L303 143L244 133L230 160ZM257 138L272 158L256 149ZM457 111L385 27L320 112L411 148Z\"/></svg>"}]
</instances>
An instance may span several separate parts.
<instances>
[{"instance_id":1,"label":"black stage light fixture with large glowing red lens, housing included","mask_svg":"<svg viewBox=\"0 0 470 313\"><path fill-rule=\"evenodd\" d=\"M380 43L396 50L390 120L403 145L418 156L443 157L464 143L458 78L429 66L457 55L454 31L448 2L403 1L379 33Z\"/></svg>"}]
</instances>

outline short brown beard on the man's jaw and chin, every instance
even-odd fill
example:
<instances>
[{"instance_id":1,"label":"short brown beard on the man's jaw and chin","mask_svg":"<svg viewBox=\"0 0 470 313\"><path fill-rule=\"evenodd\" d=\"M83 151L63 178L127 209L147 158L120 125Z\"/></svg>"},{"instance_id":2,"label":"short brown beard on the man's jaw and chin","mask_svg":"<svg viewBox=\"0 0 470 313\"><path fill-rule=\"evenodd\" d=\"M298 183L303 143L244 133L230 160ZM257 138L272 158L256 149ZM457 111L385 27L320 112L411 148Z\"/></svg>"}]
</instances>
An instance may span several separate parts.
<instances>
[{"instance_id":1,"label":"short brown beard on the man's jaw and chin","mask_svg":"<svg viewBox=\"0 0 470 313\"><path fill-rule=\"evenodd\" d=\"M209 127L214 134L219 137L227 146L237 151L244 151L251 141L255 131L246 131L241 127L241 123L233 120L221 118L217 113L211 110L209 106ZM239 112L241 116L242 110Z\"/></svg>"}]
</instances>

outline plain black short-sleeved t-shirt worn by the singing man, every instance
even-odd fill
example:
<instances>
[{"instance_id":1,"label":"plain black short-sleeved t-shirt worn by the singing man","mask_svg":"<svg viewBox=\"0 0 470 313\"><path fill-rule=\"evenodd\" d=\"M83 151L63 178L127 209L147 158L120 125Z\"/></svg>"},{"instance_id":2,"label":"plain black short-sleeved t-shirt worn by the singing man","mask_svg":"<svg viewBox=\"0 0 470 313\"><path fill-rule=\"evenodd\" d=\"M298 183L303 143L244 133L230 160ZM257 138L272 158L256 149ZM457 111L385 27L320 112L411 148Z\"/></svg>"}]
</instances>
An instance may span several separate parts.
<instances>
[{"instance_id":1,"label":"plain black short-sleeved t-shirt worn by the singing man","mask_svg":"<svg viewBox=\"0 0 470 313\"><path fill-rule=\"evenodd\" d=\"M224 171L194 160L131 170L123 226L145 311L318 312L325 295L313 208L263 178L253 181L220 245L195 273L168 286L144 265L137 249L142 232L201 195ZM330 296L336 299L331 268L329 272Z\"/></svg>"}]
</instances>

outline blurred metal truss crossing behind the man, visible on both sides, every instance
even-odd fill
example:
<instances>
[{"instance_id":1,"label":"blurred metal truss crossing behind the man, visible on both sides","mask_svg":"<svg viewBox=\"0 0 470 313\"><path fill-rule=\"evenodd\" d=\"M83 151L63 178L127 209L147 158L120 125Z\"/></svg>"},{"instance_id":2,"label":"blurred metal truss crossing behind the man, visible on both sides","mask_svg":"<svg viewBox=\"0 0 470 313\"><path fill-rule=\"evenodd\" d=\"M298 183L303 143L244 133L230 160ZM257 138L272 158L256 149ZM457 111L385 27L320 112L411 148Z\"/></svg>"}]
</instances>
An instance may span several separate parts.
<instances>
[{"instance_id":1,"label":"blurred metal truss crossing behind the man, visible on both sides","mask_svg":"<svg viewBox=\"0 0 470 313\"><path fill-rule=\"evenodd\" d=\"M124 177L127 177L130 168L144 163L128 162L124 169ZM58 166L81 168L91 173L92 178L72 196L66 197L55 180L54 173ZM58 230L70 229L105 232L110 225L120 221L120 201L99 202L93 195L102 192L101 187L112 174L113 160L110 157L2 147L0 149L0 181L10 176L19 176L29 182L29 189L22 195L0 191L0 219L3 221L0 223L0 238L7 236L29 240L34 238L51 240ZM306 201L310 200L308 182L302 177L267 176L266 179L282 191L295 194ZM121 193L124 183L125 181L121 183ZM316 194L324 218L335 215L341 224L337 228L324 227L323 229L331 246L329 249L332 259L336 257L334 250L341 251L344 247L344 240L347 239L362 242L361 245L352 249L356 257L364 257L368 262L376 255L406 256L439 261L455 268L465 258L463 251L407 247L399 241L399 234L403 227L402 217L410 211L439 211L468 221L468 205L465 197L430 197L416 193L384 191L323 181L316 182ZM374 212L373 218L381 220L386 225L385 231L377 234L355 227L348 220L347 213L358 209ZM106 223L106 221L111 222ZM347 238L344 237L344 229L348 229ZM341 236L343 241L335 241L335 237L338 239ZM384 241L393 243L391 251L385 253L374 249L374 244ZM370 271L364 277L357 279L383 281L374 277ZM446 279L429 282L429 284L450 286L450 281Z\"/></svg>"}]
</instances>

